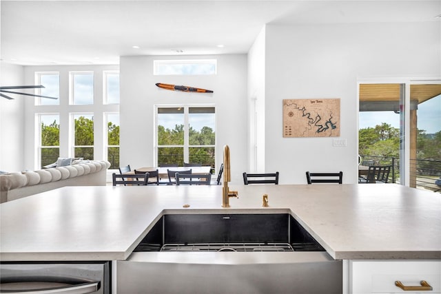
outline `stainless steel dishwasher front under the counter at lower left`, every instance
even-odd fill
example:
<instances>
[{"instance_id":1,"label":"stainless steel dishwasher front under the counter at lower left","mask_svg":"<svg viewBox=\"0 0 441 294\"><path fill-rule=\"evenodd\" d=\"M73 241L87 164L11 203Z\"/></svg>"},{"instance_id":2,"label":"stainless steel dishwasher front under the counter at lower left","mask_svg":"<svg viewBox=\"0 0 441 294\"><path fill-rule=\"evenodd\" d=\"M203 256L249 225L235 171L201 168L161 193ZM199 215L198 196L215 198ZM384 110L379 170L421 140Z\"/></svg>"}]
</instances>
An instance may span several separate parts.
<instances>
[{"instance_id":1,"label":"stainless steel dishwasher front under the counter at lower left","mask_svg":"<svg viewBox=\"0 0 441 294\"><path fill-rule=\"evenodd\" d=\"M3 262L0 293L110 294L110 262Z\"/></svg>"}]
</instances>

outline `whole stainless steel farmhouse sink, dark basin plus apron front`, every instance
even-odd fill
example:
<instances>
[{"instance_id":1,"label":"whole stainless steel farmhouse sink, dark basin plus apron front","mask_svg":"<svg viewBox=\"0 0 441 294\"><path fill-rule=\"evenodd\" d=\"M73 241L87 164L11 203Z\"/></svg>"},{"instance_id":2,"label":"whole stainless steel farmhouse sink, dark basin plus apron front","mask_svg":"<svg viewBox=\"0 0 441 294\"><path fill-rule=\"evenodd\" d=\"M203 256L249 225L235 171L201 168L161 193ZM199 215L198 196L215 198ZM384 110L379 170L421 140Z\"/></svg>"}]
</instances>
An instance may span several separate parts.
<instances>
[{"instance_id":1,"label":"whole stainless steel farmhouse sink, dark basin plus apron front","mask_svg":"<svg viewBox=\"0 0 441 294\"><path fill-rule=\"evenodd\" d=\"M118 293L342 293L342 261L287 213L167 214L127 260Z\"/></svg>"}]
</instances>

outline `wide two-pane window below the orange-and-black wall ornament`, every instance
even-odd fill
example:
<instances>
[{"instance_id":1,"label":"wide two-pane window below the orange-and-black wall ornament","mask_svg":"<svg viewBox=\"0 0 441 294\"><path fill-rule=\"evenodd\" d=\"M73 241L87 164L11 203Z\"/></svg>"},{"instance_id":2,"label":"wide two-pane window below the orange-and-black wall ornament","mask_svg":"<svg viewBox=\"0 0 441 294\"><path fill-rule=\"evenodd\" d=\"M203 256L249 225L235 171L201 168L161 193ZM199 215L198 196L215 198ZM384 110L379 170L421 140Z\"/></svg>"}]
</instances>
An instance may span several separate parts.
<instances>
[{"instance_id":1,"label":"wide two-pane window below the orange-and-black wall ornament","mask_svg":"<svg viewBox=\"0 0 441 294\"><path fill-rule=\"evenodd\" d=\"M198 163L214 167L216 117L213 105L156 106L157 165Z\"/></svg>"}]
</instances>

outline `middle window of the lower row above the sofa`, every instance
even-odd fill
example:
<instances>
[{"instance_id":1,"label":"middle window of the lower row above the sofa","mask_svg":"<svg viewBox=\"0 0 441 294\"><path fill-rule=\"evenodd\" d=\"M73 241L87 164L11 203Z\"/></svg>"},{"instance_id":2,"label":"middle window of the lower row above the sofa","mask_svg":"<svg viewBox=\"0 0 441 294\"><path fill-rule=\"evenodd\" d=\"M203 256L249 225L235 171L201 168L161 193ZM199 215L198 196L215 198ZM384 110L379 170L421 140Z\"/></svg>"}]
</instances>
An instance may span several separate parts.
<instances>
[{"instance_id":1,"label":"middle window of the lower row above the sofa","mask_svg":"<svg viewBox=\"0 0 441 294\"><path fill-rule=\"evenodd\" d=\"M94 116L93 114L72 114L74 138L73 157L94 159Z\"/></svg>"}]
</instances>

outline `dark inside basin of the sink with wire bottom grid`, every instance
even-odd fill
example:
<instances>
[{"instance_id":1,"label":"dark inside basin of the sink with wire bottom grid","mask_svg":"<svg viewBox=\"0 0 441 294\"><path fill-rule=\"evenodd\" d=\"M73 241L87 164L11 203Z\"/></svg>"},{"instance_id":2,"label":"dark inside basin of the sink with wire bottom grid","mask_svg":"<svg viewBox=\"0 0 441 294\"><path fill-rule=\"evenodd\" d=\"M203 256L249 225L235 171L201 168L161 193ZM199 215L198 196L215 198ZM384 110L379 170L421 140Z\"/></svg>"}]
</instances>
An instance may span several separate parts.
<instances>
[{"instance_id":1,"label":"dark inside basin of the sink with wire bottom grid","mask_svg":"<svg viewBox=\"0 0 441 294\"><path fill-rule=\"evenodd\" d=\"M139 251L325 251L287 213L167 214Z\"/></svg>"}]
</instances>

